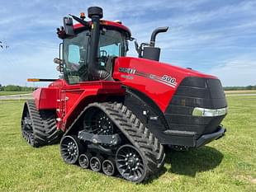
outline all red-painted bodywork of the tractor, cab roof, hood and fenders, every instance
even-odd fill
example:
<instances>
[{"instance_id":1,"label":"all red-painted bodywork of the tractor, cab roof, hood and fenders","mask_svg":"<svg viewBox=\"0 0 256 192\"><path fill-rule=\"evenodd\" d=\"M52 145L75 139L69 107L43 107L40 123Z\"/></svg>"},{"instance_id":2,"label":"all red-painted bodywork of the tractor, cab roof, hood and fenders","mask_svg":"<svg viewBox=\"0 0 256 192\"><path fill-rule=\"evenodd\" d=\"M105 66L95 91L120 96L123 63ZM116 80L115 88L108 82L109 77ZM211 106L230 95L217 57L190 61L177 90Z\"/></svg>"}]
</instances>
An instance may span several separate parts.
<instances>
[{"instance_id":1,"label":"all red-painted bodywork of the tractor, cab roof, hood and fenders","mask_svg":"<svg viewBox=\"0 0 256 192\"><path fill-rule=\"evenodd\" d=\"M101 24L103 26L116 26L130 33L126 26L116 22L101 21ZM73 27L78 29L83 26L75 24ZM152 76L144 77L136 73L120 72L119 68L131 68L137 73L140 72L140 74L151 74L154 77L159 77L160 82L155 81ZM170 87L164 84L162 80L164 75L175 78L177 86ZM37 110L56 110L58 115L57 127L65 131L86 105L95 101L107 101L108 96L124 96L125 90L121 87L122 85L145 93L164 112L172 100L178 85L185 77L216 78L167 63L130 57L121 57L115 60L112 77L116 82L80 82L75 85L69 85L64 80L52 82L49 87L39 88L34 91L36 108Z\"/></svg>"}]
</instances>

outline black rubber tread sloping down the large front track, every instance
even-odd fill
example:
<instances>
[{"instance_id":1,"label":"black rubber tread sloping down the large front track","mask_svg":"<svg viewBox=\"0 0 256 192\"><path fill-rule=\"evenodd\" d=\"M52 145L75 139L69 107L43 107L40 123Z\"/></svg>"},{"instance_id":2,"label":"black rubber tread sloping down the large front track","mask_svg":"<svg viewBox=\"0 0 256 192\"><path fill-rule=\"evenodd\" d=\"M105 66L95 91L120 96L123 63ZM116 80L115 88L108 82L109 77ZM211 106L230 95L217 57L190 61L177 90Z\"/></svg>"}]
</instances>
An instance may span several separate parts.
<instances>
[{"instance_id":1,"label":"black rubber tread sloping down the large front track","mask_svg":"<svg viewBox=\"0 0 256 192\"><path fill-rule=\"evenodd\" d=\"M144 155L146 165L144 180L158 173L164 164L164 147L140 119L121 103L92 103L85 110L92 106L105 112L130 143Z\"/></svg>"}]
</instances>

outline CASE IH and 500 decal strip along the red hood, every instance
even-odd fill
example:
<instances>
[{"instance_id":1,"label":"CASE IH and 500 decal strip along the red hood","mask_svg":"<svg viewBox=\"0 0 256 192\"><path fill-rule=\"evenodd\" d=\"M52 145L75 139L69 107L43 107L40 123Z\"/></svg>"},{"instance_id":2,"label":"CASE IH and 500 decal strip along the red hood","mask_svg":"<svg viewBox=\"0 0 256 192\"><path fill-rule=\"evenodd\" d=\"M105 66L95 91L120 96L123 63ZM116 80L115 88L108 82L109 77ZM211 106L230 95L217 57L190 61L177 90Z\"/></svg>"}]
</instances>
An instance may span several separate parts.
<instances>
[{"instance_id":1,"label":"CASE IH and 500 decal strip along the red hood","mask_svg":"<svg viewBox=\"0 0 256 192\"><path fill-rule=\"evenodd\" d=\"M164 83L165 85L169 87L176 88L178 85L178 82L176 82L176 78L170 77L168 75L164 75L163 77L159 77L154 74L144 73L144 72L138 72L135 68L119 68L119 72L121 73L129 73L129 74L135 74L136 76L140 77L146 77L149 79L152 79L156 82ZM122 76L124 77L124 76ZM133 78L130 78L133 79Z\"/></svg>"}]
</instances>

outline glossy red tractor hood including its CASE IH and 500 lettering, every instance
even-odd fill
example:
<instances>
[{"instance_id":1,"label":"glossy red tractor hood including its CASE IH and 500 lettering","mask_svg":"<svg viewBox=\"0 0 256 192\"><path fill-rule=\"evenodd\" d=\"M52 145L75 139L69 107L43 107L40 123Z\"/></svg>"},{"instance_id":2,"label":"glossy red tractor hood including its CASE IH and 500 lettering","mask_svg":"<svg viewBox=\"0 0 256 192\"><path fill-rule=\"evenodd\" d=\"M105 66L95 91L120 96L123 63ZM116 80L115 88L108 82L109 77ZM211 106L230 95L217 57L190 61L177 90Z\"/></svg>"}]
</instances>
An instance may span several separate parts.
<instances>
[{"instance_id":1,"label":"glossy red tractor hood including its CASE IH and 500 lettering","mask_svg":"<svg viewBox=\"0 0 256 192\"><path fill-rule=\"evenodd\" d=\"M187 77L203 79L202 84L206 83L208 79L215 79L220 83L217 77L192 69L131 57L116 59L112 77L121 81L126 87L144 92L159 105L162 111L167 109L179 85ZM207 85L202 86L207 87ZM223 91L221 84L220 89Z\"/></svg>"}]
</instances>

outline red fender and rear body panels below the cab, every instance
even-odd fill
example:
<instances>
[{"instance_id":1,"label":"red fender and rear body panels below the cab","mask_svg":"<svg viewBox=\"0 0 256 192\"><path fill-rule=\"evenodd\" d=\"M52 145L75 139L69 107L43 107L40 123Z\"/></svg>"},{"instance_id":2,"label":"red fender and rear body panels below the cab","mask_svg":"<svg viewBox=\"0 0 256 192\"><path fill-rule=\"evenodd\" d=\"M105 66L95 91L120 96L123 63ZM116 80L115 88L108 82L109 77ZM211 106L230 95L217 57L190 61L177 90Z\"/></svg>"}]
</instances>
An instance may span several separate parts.
<instances>
[{"instance_id":1,"label":"red fender and rear body panels below the cab","mask_svg":"<svg viewBox=\"0 0 256 192\"><path fill-rule=\"evenodd\" d=\"M65 131L83 108L91 102L106 101L107 96L124 96L121 82L81 82L69 85L64 80L34 91L37 110L56 110L58 129Z\"/></svg>"}]
</instances>

